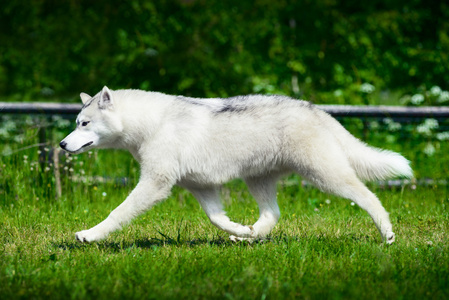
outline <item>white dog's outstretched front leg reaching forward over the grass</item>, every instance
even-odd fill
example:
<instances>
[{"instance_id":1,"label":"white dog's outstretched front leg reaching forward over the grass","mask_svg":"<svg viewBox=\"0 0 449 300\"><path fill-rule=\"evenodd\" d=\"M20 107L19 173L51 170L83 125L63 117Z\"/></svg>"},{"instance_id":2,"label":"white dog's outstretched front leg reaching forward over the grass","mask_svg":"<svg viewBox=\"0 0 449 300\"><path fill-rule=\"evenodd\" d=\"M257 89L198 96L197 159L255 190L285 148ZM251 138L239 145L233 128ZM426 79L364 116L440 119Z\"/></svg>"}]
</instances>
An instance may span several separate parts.
<instances>
[{"instance_id":1,"label":"white dog's outstretched front leg reaching forward over the grass","mask_svg":"<svg viewBox=\"0 0 449 300\"><path fill-rule=\"evenodd\" d=\"M134 217L150 209L155 203L164 200L170 193L171 184L157 180L141 180L125 201L114 209L100 224L77 232L80 242L95 242L106 238L111 232L119 230Z\"/></svg>"}]
</instances>

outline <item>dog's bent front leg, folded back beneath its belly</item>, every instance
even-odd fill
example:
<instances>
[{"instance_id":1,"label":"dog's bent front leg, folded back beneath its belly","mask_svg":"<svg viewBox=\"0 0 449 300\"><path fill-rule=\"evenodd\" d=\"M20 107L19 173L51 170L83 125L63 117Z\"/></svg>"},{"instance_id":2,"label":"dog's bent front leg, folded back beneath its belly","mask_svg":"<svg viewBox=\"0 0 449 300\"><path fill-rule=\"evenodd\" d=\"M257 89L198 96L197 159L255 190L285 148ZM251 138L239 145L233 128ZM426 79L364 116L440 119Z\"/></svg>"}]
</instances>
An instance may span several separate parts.
<instances>
[{"instance_id":1,"label":"dog's bent front leg, folded back beneath its belly","mask_svg":"<svg viewBox=\"0 0 449 300\"><path fill-rule=\"evenodd\" d=\"M232 222L229 217L226 216L226 212L223 210L223 205L216 188L190 189L190 191L201 204L201 207L204 209L213 225L231 235L254 238L255 234L252 226L244 226Z\"/></svg>"}]
</instances>

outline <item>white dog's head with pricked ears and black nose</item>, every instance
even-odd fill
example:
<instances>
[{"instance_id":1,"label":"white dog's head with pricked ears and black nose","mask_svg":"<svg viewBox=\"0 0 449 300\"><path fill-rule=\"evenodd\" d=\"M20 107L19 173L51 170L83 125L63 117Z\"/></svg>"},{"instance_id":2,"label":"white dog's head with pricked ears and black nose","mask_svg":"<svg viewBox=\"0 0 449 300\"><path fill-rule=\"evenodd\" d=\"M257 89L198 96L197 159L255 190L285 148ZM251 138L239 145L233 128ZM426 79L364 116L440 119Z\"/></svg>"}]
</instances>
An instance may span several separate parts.
<instances>
[{"instance_id":1,"label":"white dog's head with pricked ears and black nose","mask_svg":"<svg viewBox=\"0 0 449 300\"><path fill-rule=\"evenodd\" d=\"M61 148L77 154L92 148L114 147L123 128L113 93L105 86L94 97L85 93L80 97L84 106L76 118L76 129L59 143Z\"/></svg>"}]
</instances>

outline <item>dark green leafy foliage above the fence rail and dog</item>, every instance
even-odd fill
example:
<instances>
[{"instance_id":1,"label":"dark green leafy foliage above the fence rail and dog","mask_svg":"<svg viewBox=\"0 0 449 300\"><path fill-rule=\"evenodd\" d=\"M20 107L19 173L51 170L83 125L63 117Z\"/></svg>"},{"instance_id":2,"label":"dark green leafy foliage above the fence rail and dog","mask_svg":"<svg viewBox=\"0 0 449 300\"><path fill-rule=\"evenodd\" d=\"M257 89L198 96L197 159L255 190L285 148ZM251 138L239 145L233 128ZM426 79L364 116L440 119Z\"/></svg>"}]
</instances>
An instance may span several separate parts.
<instances>
[{"instance_id":1,"label":"dark green leafy foliage above the fence rail and dog","mask_svg":"<svg viewBox=\"0 0 449 300\"><path fill-rule=\"evenodd\" d=\"M448 89L448 32L435 0L6 1L0 95L61 101L108 85L363 103L365 82Z\"/></svg>"}]
</instances>

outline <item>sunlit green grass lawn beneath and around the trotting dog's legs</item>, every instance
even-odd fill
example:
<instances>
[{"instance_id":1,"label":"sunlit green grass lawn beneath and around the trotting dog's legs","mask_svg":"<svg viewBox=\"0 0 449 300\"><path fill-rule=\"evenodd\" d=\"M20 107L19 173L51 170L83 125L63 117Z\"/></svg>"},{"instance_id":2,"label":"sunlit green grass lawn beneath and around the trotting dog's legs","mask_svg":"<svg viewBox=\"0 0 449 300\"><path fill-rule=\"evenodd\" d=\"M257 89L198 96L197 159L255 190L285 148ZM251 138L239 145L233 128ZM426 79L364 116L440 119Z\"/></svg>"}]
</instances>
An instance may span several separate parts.
<instances>
[{"instance_id":1,"label":"sunlit green grass lawn beneath and around the trotting dog's legs","mask_svg":"<svg viewBox=\"0 0 449 300\"><path fill-rule=\"evenodd\" d=\"M59 199L54 166L40 165L35 149L0 160L2 299L449 297L446 186L371 185L391 212L392 246L381 243L356 205L302 187L295 176L279 184L282 217L262 243L230 242L188 192L174 188L122 231L84 245L74 233L104 219L135 185L138 166L130 156L64 156ZM88 175L130 179L79 179ZM241 181L224 186L222 198L231 219L256 221L257 206Z\"/></svg>"}]
</instances>

